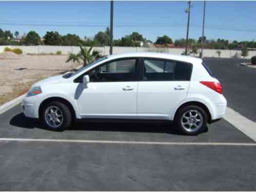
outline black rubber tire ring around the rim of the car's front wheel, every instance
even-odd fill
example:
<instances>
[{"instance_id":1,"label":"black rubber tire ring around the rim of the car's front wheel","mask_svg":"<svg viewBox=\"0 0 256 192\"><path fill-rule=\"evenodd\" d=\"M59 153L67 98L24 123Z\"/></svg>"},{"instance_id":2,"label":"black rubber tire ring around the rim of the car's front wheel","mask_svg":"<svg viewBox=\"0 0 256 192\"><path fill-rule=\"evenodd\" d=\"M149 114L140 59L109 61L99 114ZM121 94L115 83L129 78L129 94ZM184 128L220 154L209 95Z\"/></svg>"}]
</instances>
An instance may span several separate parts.
<instances>
[{"instance_id":1,"label":"black rubber tire ring around the rim of the car's front wheel","mask_svg":"<svg viewBox=\"0 0 256 192\"><path fill-rule=\"evenodd\" d=\"M59 126L57 128L51 127L50 125L47 124L47 122L45 120L45 111L49 106L57 106L63 114L63 122L62 122L61 126ZM70 126L70 124L72 122L72 116L71 116L71 112L70 112L69 108L64 103L59 102L59 101L53 101L53 102L46 104L43 107L43 110L41 112L41 118L42 118L44 125L47 126L48 129L50 129L52 131L64 131Z\"/></svg>"}]
</instances>

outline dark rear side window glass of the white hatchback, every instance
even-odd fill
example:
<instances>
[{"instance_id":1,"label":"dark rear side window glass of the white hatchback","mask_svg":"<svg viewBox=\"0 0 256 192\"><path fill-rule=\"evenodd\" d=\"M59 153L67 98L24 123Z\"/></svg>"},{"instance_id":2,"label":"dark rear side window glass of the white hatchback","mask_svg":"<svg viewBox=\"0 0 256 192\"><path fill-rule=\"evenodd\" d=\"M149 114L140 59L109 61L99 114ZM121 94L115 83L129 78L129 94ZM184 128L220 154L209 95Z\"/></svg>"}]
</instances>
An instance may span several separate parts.
<instances>
[{"instance_id":1,"label":"dark rear side window glass of the white hatchback","mask_svg":"<svg viewBox=\"0 0 256 192\"><path fill-rule=\"evenodd\" d=\"M188 81L190 64L172 60L144 59L144 81Z\"/></svg>"}]
</instances>

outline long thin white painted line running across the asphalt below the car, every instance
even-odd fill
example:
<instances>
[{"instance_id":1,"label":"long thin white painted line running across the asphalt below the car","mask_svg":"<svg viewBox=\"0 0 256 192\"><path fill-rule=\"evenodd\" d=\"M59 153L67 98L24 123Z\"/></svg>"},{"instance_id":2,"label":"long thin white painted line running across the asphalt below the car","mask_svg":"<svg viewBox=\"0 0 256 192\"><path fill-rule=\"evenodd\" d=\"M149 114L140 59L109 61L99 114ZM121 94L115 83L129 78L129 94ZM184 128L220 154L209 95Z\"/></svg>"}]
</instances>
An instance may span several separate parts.
<instances>
[{"instance_id":1,"label":"long thin white painted line running across the asphalt below the car","mask_svg":"<svg viewBox=\"0 0 256 192\"><path fill-rule=\"evenodd\" d=\"M110 140L70 140L70 139L25 139L0 138L0 141L20 142L67 142L67 143L109 143L109 144L147 144L147 145L232 145L256 146L256 143L225 143L225 142L154 142L154 141L110 141Z\"/></svg>"}]
</instances>

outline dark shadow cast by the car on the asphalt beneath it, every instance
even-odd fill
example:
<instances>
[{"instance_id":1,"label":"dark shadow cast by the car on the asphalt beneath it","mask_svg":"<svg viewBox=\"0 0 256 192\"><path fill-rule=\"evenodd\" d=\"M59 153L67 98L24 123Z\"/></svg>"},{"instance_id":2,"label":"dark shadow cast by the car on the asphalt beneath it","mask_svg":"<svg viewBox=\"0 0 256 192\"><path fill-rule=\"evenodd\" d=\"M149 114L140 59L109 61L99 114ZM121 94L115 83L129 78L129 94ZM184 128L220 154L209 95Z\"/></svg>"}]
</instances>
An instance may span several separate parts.
<instances>
[{"instance_id":1,"label":"dark shadow cast by the car on the asphalt beneath it","mask_svg":"<svg viewBox=\"0 0 256 192\"><path fill-rule=\"evenodd\" d=\"M37 119L27 118L24 113L20 113L11 118L10 124L25 129L48 130L43 123ZM78 120L66 131L111 131L111 132L149 132L168 133L172 135L184 135L179 132L174 123L167 121L132 121L132 120L109 120L109 119L87 119ZM207 129L203 132L208 132Z\"/></svg>"}]
</instances>

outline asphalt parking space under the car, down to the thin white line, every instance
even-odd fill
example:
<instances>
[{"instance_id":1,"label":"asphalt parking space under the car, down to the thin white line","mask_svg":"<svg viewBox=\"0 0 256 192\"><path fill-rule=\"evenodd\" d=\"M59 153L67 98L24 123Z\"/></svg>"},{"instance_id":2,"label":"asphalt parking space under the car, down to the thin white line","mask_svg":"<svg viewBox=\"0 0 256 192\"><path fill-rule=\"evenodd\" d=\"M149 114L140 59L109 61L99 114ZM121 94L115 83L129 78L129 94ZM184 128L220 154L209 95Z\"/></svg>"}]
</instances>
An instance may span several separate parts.
<instances>
[{"instance_id":1,"label":"asphalt parking space under the car, down to the thin white line","mask_svg":"<svg viewBox=\"0 0 256 192\"><path fill-rule=\"evenodd\" d=\"M1 138L76 139L150 142L253 142L226 120L208 126L197 136L181 135L170 123L86 122L80 121L70 130L53 132L22 113L21 106L0 115Z\"/></svg>"}]
</instances>

